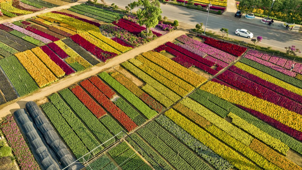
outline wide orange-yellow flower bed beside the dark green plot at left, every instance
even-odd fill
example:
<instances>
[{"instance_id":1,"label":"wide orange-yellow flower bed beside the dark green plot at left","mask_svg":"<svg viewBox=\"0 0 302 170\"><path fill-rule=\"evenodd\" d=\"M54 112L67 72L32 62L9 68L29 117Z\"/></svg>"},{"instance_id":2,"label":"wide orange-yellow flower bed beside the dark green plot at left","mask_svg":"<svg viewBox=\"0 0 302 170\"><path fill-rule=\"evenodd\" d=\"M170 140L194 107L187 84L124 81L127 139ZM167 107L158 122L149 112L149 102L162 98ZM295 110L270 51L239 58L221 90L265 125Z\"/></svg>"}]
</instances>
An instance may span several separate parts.
<instances>
[{"instance_id":1,"label":"wide orange-yellow flower bed beside the dark green plot at left","mask_svg":"<svg viewBox=\"0 0 302 170\"><path fill-rule=\"evenodd\" d=\"M39 87L44 87L58 80L32 51L23 51L15 54L15 56L37 82Z\"/></svg>"}]
</instances>

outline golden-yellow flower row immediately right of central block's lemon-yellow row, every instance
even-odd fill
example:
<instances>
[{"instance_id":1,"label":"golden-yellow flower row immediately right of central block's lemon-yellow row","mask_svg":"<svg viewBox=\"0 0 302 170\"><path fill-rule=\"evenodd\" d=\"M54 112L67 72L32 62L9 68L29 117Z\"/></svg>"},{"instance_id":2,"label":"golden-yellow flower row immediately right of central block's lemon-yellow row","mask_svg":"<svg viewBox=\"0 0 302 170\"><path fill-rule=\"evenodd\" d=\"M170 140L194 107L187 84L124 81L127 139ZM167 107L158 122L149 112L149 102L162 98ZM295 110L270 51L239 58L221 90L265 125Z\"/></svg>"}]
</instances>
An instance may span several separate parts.
<instances>
[{"instance_id":1,"label":"golden-yellow flower row immediately right of central block's lemon-yellow row","mask_svg":"<svg viewBox=\"0 0 302 170\"><path fill-rule=\"evenodd\" d=\"M174 82L166 79L162 75L156 73L156 71L154 71L154 70L150 69L149 67L147 67L146 65L142 64L139 60L131 58L129 61L136 67L140 68L143 72L145 72L146 74L148 74L149 76L151 76L152 78L157 80L159 83L162 83L163 85L168 87L170 90L174 91L179 96L184 97L188 94L188 92L186 90L182 89L181 87L176 85Z\"/></svg>"}]
</instances>

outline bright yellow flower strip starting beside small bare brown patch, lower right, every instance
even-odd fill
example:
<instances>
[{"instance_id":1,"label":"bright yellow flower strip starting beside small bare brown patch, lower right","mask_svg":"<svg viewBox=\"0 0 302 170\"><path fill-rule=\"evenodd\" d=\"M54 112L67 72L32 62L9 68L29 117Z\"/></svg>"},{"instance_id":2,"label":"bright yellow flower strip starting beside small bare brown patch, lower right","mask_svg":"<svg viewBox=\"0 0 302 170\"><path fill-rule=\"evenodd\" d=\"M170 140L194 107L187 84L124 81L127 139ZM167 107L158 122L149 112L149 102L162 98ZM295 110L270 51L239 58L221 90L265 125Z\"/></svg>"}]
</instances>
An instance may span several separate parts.
<instances>
[{"instance_id":1,"label":"bright yellow flower strip starting beside small bare brown patch, lower right","mask_svg":"<svg viewBox=\"0 0 302 170\"><path fill-rule=\"evenodd\" d=\"M288 152L288 145L285 145L283 142L281 142L279 139L276 139L267 133L263 132L256 126L246 122L245 120L241 119L239 116L235 115L234 113L229 113L228 116L232 118L232 123L239 128L242 128L246 132L249 132L253 136L255 136L257 139L262 140L267 145L270 145L272 148L278 150L279 152L283 153L284 155L287 155Z\"/></svg>"}]
</instances>

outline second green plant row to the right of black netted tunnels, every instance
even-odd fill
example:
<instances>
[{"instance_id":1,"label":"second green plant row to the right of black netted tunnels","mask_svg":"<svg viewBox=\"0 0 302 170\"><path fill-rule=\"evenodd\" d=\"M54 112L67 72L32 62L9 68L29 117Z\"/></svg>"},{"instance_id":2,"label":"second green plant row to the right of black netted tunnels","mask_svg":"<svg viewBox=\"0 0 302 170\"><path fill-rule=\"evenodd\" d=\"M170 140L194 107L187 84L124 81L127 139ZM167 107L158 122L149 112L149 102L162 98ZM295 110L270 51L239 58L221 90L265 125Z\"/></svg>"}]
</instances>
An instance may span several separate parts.
<instances>
[{"instance_id":1,"label":"second green plant row to the right of black netted tunnels","mask_svg":"<svg viewBox=\"0 0 302 170\"><path fill-rule=\"evenodd\" d=\"M65 121L69 124L72 130L79 136L81 141L87 147L89 151L95 149L100 143L94 138L94 136L89 132L81 120L72 112L72 110L65 104L63 99L60 98L58 93L54 93L48 97L61 113ZM101 151L101 147L95 150L95 153Z\"/></svg>"}]
</instances>

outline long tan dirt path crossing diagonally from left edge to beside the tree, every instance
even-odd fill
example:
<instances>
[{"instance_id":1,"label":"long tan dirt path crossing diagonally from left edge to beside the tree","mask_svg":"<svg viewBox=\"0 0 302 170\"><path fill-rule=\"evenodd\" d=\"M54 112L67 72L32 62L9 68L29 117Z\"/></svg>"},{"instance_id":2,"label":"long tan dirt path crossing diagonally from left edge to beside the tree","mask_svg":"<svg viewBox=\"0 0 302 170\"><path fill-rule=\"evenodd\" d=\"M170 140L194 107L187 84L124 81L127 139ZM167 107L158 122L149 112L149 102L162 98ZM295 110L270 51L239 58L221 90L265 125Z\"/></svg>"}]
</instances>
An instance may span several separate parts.
<instances>
[{"instance_id":1,"label":"long tan dirt path crossing diagonally from left edge to beside the tree","mask_svg":"<svg viewBox=\"0 0 302 170\"><path fill-rule=\"evenodd\" d=\"M43 99L45 96L49 96L52 93L55 93L61 89L69 87L70 85L79 82L80 80L86 79L94 74L100 73L101 71L107 70L111 67L114 67L130 58L133 58L143 52L153 50L155 47L159 46L160 44L164 44L167 41L172 41L180 35L187 33L187 31L178 29L172 31L169 34L165 34L156 40L145 44L143 46L137 47L133 50L130 50L124 54L121 54L109 61L105 64L100 63L91 68L86 69L81 73L76 73L71 76L65 77L55 83L52 83L50 86L44 87L42 89L37 90L34 93L31 93L27 96L19 97L16 100L10 101L8 103L3 104L0 106L0 118L6 116L7 114L12 114L15 110L20 108L25 108L25 104L28 101L38 101Z\"/></svg>"}]
</instances>

